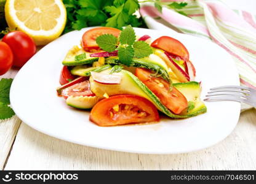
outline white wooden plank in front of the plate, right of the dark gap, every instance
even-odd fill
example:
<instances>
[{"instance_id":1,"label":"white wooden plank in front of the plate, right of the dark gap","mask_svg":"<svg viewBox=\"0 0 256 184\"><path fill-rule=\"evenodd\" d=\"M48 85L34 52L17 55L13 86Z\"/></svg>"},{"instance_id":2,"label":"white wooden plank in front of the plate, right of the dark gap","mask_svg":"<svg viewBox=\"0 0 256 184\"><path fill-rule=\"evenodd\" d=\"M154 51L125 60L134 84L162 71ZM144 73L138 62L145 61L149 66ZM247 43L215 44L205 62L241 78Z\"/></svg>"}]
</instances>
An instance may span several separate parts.
<instances>
[{"instance_id":1,"label":"white wooden plank in front of the plate, right of the dark gap","mask_svg":"<svg viewBox=\"0 0 256 184\"><path fill-rule=\"evenodd\" d=\"M177 155L143 155L71 144L22 123L6 169L256 169L255 132L253 109L243 112L232 134L214 147Z\"/></svg>"}]
</instances>

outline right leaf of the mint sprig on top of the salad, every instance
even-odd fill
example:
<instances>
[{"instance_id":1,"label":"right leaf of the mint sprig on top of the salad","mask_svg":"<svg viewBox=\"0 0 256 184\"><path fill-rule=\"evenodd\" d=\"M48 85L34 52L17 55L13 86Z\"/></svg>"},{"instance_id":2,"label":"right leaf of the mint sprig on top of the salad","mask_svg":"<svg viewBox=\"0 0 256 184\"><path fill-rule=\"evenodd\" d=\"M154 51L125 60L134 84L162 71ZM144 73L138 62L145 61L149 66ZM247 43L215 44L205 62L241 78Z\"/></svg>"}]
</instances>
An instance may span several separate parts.
<instances>
[{"instance_id":1,"label":"right leaf of the mint sprig on top of the salad","mask_svg":"<svg viewBox=\"0 0 256 184\"><path fill-rule=\"evenodd\" d=\"M135 58L144 58L153 53L152 48L145 41L137 41L134 43L134 56Z\"/></svg>"}]
</instances>

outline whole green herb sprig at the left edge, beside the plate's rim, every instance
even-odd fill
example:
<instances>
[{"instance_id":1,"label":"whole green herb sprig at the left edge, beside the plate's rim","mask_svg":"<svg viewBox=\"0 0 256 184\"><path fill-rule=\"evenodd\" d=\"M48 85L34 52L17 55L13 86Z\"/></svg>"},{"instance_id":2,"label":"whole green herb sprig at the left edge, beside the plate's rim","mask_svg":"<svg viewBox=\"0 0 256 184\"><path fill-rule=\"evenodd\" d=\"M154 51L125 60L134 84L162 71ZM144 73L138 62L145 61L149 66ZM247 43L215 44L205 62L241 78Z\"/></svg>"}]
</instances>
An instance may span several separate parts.
<instances>
[{"instance_id":1,"label":"whole green herb sprig at the left edge, beside the plate's rim","mask_svg":"<svg viewBox=\"0 0 256 184\"><path fill-rule=\"evenodd\" d=\"M14 110L9 107L10 104L10 85L13 79L0 80L0 120L4 120L15 115Z\"/></svg>"}]
</instances>

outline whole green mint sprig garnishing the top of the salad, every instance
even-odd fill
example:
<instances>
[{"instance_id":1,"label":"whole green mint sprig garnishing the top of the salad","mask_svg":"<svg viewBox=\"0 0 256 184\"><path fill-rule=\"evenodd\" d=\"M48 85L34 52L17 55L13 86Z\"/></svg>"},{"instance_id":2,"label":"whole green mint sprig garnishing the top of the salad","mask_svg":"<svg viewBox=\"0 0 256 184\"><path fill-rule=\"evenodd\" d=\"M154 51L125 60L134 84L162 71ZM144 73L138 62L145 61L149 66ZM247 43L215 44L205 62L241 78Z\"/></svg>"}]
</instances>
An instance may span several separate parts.
<instances>
[{"instance_id":1,"label":"whole green mint sprig garnishing the top of the salad","mask_svg":"<svg viewBox=\"0 0 256 184\"><path fill-rule=\"evenodd\" d=\"M132 26L122 30L119 37L112 34L98 36L96 42L106 52L118 50L118 57L122 64L130 66L133 58L144 58L153 53L152 48L145 41L136 41L136 35Z\"/></svg>"}]
</instances>

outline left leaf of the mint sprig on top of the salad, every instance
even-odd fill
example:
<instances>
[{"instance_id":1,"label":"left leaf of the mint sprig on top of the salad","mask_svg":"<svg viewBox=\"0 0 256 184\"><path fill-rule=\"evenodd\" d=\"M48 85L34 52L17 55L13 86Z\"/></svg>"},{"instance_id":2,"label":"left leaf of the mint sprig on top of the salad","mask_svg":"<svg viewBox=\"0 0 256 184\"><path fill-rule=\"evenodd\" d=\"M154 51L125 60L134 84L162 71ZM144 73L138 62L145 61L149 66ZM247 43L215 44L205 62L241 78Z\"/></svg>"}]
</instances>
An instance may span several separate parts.
<instances>
[{"instance_id":1,"label":"left leaf of the mint sprig on top of the salad","mask_svg":"<svg viewBox=\"0 0 256 184\"><path fill-rule=\"evenodd\" d=\"M113 52L116 50L118 38L113 36L113 34L103 34L97 37L96 42L98 46L106 52Z\"/></svg>"}]
</instances>

